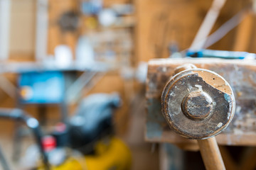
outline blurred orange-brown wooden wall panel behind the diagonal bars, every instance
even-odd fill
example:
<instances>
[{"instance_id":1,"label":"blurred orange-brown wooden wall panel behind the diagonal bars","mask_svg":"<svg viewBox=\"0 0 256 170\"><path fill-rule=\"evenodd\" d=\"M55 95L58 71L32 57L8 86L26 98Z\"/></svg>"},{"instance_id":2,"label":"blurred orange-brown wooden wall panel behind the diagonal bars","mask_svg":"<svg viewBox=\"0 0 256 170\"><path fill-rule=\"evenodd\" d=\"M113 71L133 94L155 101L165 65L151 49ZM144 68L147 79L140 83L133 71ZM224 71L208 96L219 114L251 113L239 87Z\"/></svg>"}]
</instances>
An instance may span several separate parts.
<instances>
[{"instance_id":1,"label":"blurred orange-brown wooden wall panel behind the diagonal bars","mask_svg":"<svg viewBox=\"0 0 256 170\"><path fill-rule=\"evenodd\" d=\"M212 1L210 0L137 0L136 55L139 61L169 57L169 45L176 43L179 50L190 47ZM220 12L213 31L222 26L249 1L228 0ZM212 32L213 32L212 31ZM235 39L232 30L210 48L232 50Z\"/></svg>"}]
</instances>

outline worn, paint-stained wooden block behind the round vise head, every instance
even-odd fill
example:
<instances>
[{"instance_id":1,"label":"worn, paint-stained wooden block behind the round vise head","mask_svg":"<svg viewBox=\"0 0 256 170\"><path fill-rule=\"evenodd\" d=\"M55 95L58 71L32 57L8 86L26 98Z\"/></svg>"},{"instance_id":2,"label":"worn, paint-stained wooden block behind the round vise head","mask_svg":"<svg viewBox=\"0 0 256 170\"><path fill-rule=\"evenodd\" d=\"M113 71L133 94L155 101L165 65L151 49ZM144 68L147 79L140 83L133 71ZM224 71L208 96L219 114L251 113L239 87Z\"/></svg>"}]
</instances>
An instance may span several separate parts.
<instances>
[{"instance_id":1,"label":"worn, paint-stained wooden block behind the round vise head","mask_svg":"<svg viewBox=\"0 0 256 170\"><path fill-rule=\"evenodd\" d=\"M253 60L159 59L151 60L146 82L146 132L149 142L196 143L171 131L161 113L161 93L182 64L195 64L220 74L233 89L236 111L228 128L216 137L220 145L256 145L256 62Z\"/></svg>"}]
</instances>

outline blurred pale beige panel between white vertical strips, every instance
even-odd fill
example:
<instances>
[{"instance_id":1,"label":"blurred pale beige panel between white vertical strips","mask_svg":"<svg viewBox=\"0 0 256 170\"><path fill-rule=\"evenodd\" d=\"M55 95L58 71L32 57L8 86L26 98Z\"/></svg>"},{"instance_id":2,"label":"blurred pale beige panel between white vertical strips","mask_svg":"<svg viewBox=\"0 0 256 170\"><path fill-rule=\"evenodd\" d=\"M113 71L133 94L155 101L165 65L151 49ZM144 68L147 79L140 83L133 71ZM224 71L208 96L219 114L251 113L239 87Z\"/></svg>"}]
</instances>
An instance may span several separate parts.
<instances>
[{"instance_id":1,"label":"blurred pale beige panel between white vertical strips","mask_svg":"<svg viewBox=\"0 0 256 170\"><path fill-rule=\"evenodd\" d=\"M11 1L9 50L12 60L19 55L33 60L36 40L36 1Z\"/></svg>"}]
</instances>

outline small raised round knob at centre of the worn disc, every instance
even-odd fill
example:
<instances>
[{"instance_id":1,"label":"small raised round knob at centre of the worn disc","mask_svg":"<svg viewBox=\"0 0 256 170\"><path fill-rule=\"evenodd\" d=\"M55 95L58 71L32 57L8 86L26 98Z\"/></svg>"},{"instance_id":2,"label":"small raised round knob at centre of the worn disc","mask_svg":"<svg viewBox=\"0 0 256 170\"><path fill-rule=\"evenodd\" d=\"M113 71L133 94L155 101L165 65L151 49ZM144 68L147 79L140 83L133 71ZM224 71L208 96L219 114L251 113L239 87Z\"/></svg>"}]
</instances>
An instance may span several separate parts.
<instances>
[{"instance_id":1,"label":"small raised round knob at centre of the worn disc","mask_svg":"<svg viewBox=\"0 0 256 170\"><path fill-rule=\"evenodd\" d=\"M191 120L204 120L213 111L213 99L206 92L192 91L183 98L181 108Z\"/></svg>"}]
</instances>

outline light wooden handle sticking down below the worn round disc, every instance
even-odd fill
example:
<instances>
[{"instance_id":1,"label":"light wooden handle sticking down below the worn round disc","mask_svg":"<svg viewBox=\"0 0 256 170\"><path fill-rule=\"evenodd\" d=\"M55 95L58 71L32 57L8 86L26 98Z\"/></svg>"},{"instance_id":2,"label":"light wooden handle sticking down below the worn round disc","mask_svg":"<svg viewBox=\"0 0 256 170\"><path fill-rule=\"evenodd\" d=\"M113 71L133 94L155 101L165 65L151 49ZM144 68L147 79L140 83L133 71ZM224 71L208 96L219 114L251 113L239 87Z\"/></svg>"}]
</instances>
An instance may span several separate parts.
<instances>
[{"instance_id":1,"label":"light wooden handle sticking down below the worn round disc","mask_svg":"<svg viewBox=\"0 0 256 170\"><path fill-rule=\"evenodd\" d=\"M198 145L207 170L224 170L225 165L215 137L198 140Z\"/></svg>"}]
</instances>

